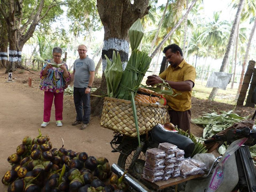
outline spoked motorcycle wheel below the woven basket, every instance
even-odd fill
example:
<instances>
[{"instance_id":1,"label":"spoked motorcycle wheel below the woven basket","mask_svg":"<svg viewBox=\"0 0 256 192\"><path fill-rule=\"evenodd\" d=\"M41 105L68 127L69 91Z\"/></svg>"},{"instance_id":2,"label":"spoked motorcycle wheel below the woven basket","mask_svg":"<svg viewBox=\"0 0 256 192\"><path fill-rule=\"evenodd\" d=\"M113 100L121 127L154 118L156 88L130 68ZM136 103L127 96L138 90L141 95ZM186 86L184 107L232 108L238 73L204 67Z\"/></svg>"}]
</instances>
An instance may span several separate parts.
<instances>
[{"instance_id":1,"label":"spoked motorcycle wheel below the woven basket","mask_svg":"<svg viewBox=\"0 0 256 192\"><path fill-rule=\"evenodd\" d=\"M120 154L117 164L122 169L128 170L128 172L135 178L140 178L143 171L143 167L145 165L146 154L144 152L140 152L140 155L138 156L136 163L134 164L132 169L129 169L132 163L132 158L134 156L134 153L135 153L135 150L128 155Z\"/></svg>"}]
</instances>

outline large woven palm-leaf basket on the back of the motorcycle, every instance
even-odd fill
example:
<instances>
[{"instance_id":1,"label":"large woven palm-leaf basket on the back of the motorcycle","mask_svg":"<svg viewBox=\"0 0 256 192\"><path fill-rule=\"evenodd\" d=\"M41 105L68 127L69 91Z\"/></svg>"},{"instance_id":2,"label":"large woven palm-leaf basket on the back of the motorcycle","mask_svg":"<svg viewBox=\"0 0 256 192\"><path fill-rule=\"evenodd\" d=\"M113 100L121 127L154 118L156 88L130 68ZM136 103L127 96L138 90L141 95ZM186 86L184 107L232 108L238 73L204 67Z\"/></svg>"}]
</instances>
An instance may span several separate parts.
<instances>
[{"instance_id":1,"label":"large woven palm-leaf basket on the back of the motorcycle","mask_svg":"<svg viewBox=\"0 0 256 192\"><path fill-rule=\"evenodd\" d=\"M140 135L145 134L158 123L170 122L167 106L135 103ZM100 125L120 134L137 137L132 105L128 100L105 97Z\"/></svg>"}]
</instances>

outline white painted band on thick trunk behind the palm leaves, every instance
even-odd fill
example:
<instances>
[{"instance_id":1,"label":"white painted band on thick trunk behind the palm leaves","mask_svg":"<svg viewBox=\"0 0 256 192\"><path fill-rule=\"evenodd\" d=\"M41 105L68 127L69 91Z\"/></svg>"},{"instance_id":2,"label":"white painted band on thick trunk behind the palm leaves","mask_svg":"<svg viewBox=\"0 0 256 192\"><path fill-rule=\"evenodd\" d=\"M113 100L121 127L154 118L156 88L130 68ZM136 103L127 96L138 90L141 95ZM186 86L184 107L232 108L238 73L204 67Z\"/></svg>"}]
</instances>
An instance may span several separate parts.
<instances>
[{"instance_id":1,"label":"white painted band on thick trunk behind the palm leaves","mask_svg":"<svg viewBox=\"0 0 256 192\"><path fill-rule=\"evenodd\" d=\"M104 40L103 50L114 49L116 51L123 51L129 54L129 43L124 39L110 38Z\"/></svg>"}]
</instances>

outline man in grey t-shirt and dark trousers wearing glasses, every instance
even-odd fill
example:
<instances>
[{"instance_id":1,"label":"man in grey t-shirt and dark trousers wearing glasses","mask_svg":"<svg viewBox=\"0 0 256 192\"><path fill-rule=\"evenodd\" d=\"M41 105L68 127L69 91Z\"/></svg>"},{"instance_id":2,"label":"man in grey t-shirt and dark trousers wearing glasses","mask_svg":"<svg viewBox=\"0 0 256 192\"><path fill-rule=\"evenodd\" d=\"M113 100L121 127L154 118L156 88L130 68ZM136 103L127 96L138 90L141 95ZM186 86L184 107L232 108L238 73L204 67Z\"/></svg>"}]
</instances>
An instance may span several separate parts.
<instances>
[{"instance_id":1,"label":"man in grey t-shirt and dark trousers wearing glasses","mask_svg":"<svg viewBox=\"0 0 256 192\"><path fill-rule=\"evenodd\" d=\"M94 61L87 57L86 52L87 47L85 45L78 46L80 58L74 62L74 70L69 81L70 83L74 80L74 103L76 107L76 121L72 125L83 123L80 128L82 130L88 126L90 120L90 92L95 75Z\"/></svg>"}]
</instances>

